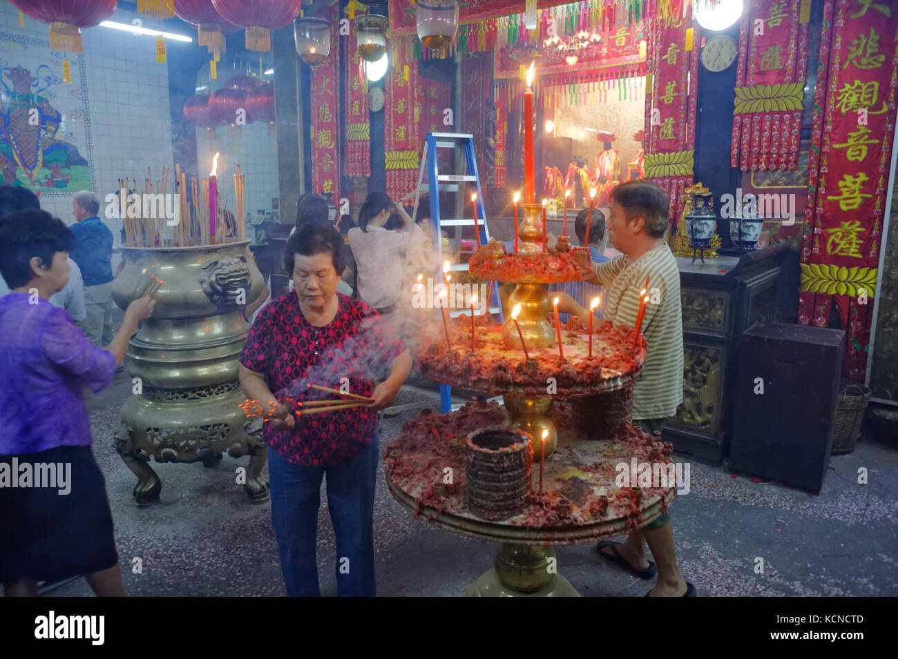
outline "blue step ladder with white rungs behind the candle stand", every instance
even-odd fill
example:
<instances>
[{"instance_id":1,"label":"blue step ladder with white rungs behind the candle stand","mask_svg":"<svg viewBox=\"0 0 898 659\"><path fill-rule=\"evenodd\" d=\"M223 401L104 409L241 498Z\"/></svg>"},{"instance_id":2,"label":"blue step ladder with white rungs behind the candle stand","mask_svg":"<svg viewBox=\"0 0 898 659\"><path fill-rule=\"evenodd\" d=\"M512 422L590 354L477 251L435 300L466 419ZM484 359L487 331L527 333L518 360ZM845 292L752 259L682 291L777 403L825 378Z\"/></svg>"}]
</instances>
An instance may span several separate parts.
<instances>
[{"instance_id":1,"label":"blue step ladder with white rungs behind the candle stand","mask_svg":"<svg viewBox=\"0 0 898 659\"><path fill-rule=\"evenodd\" d=\"M458 149L462 149L467 172L464 174L441 174L438 166L437 149L450 149L453 151L453 155L457 153ZM424 183L425 171L427 171L427 183ZM418 171L418 189L415 192L415 207L411 216L412 219L417 218L420 195L422 192L427 193L430 196L431 238L439 256L438 263L441 265L444 262L443 227L455 227L454 251L461 254L462 228L474 226L474 220L473 218L445 219L440 212L439 194L441 192L461 193L461 204L456 204L456 207L462 209L471 208L470 204L465 203L466 199L470 199L470 196L467 194L467 184L469 183L477 193L477 224L480 231L480 244L486 245L489 243L489 230L487 228L487 213L483 207L483 191L480 189L480 175L477 173L477 160L474 158L474 135L464 133L427 133L424 136L424 151L421 153L421 167ZM453 264L450 270L451 272L466 272L468 264ZM443 276L442 270L437 270L434 274L436 277ZM489 313L498 314L499 320L502 321L504 316L502 315L498 283L492 288L493 292L489 299ZM463 313L465 313L464 309L456 309L450 312L450 316L454 318ZM452 411L452 389L449 385L440 384L440 410L444 414Z\"/></svg>"}]
</instances>

